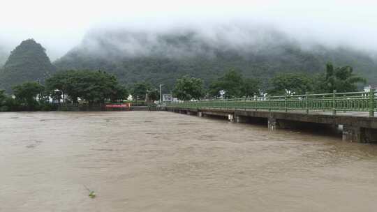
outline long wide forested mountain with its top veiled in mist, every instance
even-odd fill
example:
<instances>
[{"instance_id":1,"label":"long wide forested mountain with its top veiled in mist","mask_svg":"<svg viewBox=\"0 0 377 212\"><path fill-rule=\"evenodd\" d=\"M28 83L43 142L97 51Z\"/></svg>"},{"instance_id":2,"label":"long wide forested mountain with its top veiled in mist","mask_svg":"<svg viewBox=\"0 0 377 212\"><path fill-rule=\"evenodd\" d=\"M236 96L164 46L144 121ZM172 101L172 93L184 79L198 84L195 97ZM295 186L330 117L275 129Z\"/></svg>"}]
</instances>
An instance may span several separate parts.
<instances>
[{"instance_id":1,"label":"long wide forested mountain with its top veiled in mist","mask_svg":"<svg viewBox=\"0 0 377 212\"><path fill-rule=\"evenodd\" d=\"M231 31L233 30L233 31ZM121 82L146 80L170 87L182 75L208 83L225 70L236 68L245 77L268 79L275 73L322 72L325 63L353 66L355 73L377 83L377 62L369 54L346 47L302 47L277 31L161 33L91 32L82 44L54 62L58 69L101 69Z\"/></svg>"}]
</instances>

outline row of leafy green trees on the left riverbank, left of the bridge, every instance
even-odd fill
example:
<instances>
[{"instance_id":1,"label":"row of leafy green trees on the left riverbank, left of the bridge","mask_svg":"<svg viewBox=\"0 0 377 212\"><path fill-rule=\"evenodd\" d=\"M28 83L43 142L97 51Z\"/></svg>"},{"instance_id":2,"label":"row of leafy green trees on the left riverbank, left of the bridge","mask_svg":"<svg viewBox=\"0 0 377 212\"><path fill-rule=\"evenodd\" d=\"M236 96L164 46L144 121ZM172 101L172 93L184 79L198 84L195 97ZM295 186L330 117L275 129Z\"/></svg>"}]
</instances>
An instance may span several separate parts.
<instances>
[{"instance_id":1,"label":"row of leafy green trees on the left riverbank, left of the bridge","mask_svg":"<svg viewBox=\"0 0 377 212\"><path fill-rule=\"evenodd\" d=\"M40 82L24 82L12 87L13 96L0 90L0 111L54 110L57 103L88 105L122 103L131 94L134 100L158 100L158 90L147 82L135 83L131 89L117 77L101 70L66 70Z\"/></svg>"}]
</instances>

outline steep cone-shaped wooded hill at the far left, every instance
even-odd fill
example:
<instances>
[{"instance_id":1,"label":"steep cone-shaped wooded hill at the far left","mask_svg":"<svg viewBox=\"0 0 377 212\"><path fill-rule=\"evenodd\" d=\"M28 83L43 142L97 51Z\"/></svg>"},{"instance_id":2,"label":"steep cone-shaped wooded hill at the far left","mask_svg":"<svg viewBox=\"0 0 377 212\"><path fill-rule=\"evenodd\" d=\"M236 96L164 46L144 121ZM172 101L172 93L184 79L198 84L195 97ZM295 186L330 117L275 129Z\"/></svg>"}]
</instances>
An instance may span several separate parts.
<instances>
[{"instance_id":1,"label":"steep cone-shaped wooded hill at the far left","mask_svg":"<svg viewBox=\"0 0 377 212\"><path fill-rule=\"evenodd\" d=\"M33 39L24 40L10 52L0 73L0 86L10 93L12 86L23 82L43 83L54 70L42 45Z\"/></svg>"}]
</instances>

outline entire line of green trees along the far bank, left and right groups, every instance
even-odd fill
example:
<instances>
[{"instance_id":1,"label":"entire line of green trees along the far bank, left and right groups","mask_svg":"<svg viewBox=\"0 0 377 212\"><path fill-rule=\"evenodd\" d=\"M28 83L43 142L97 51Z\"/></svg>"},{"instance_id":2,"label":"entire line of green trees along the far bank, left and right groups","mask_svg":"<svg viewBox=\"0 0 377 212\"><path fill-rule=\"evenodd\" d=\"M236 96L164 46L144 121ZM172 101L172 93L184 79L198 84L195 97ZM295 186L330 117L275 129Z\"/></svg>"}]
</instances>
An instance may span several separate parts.
<instances>
[{"instance_id":1,"label":"entire line of green trees along the far bank, left and right groups","mask_svg":"<svg viewBox=\"0 0 377 212\"><path fill-rule=\"evenodd\" d=\"M243 98L253 96L281 96L304 93L332 93L357 91L366 80L353 73L350 66L334 67L327 63L325 72L318 75L280 73L262 82L246 78L235 69L205 86L202 79L185 75L176 80L172 96L179 100L202 98ZM268 83L262 86L263 83ZM153 102L159 99L159 91L148 82L136 82L131 88L120 84L112 74L101 70L66 70L47 77L45 84L24 82L13 86L12 96L0 91L0 111L53 110L54 103L78 103L89 105L120 103L131 94L133 100Z\"/></svg>"}]
</instances>

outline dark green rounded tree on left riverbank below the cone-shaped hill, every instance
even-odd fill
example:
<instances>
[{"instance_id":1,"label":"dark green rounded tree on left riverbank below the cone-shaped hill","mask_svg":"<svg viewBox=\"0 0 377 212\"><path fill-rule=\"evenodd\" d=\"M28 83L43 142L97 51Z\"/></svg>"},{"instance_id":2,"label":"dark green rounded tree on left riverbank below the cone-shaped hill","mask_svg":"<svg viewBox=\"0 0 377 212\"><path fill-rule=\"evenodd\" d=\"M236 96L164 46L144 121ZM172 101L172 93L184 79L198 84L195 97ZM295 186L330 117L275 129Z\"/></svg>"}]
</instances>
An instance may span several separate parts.
<instances>
[{"instance_id":1,"label":"dark green rounded tree on left riverbank below the cone-shaped hill","mask_svg":"<svg viewBox=\"0 0 377 212\"><path fill-rule=\"evenodd\" d=\"M38 102L36 100L37 96L40 96L45 90L45 87L38 82L24 82L20 85L13 86L13 93L15 94L16 100L18 100L22 105L26 106L27 109L37 109Z\"/></svg>"}]
</instances>

